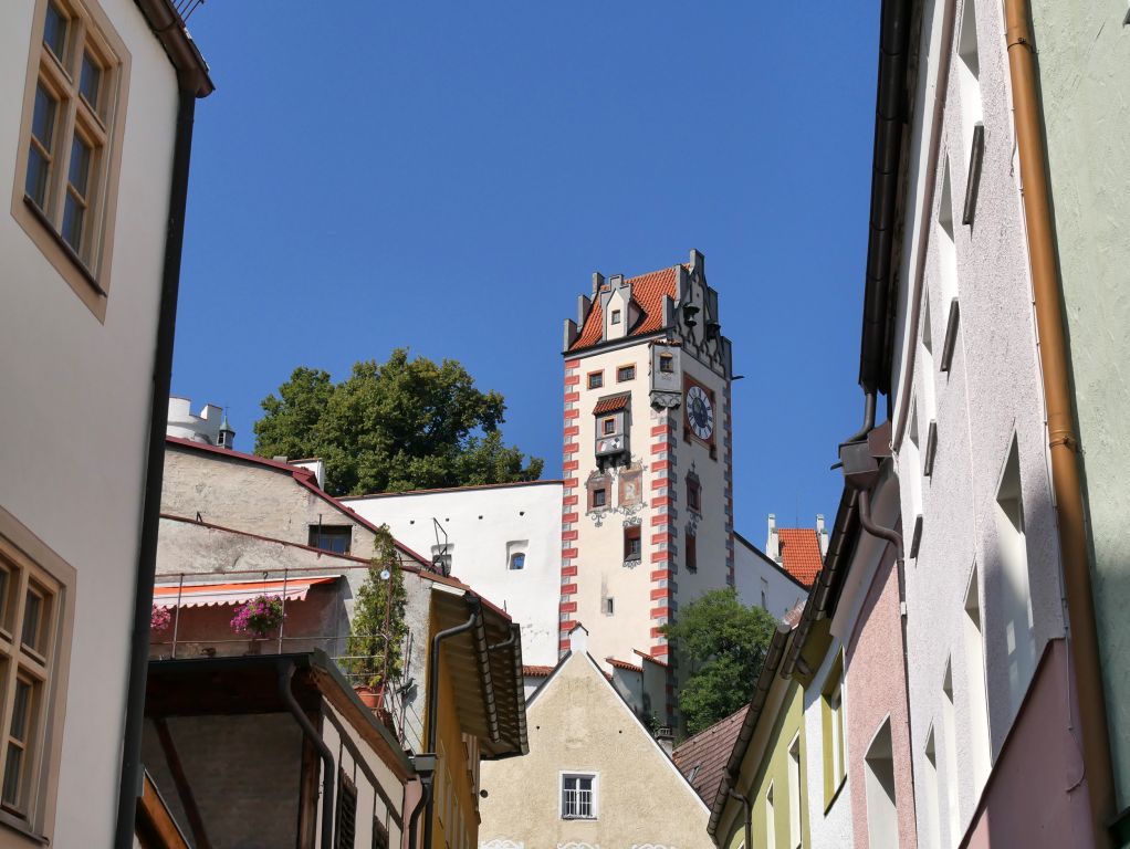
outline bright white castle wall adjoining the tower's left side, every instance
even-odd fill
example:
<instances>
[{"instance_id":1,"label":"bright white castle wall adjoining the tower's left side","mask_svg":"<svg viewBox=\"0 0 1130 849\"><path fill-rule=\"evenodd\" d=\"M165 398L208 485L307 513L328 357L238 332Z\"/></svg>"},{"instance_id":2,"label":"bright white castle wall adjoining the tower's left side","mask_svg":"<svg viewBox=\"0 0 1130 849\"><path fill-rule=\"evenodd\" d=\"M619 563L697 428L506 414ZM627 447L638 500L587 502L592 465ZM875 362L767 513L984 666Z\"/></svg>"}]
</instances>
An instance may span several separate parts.
<instances>
[{"instance_id":1,"label":"bright white castle wall adjoining the tower's left side","mask_svg":"<svg viewBox=\"0 0 1130 849\"><path fill-rule=\"evenodd\" d=\"M346 499L358 514L429 556L437 520L452 546L452 575L522 626L525 664L557 662L560 587L559 480ZM523 540L525 568L511 570L507 545ZM444 542L440 537L440 542Z\"/></svg>"}]
</instances>

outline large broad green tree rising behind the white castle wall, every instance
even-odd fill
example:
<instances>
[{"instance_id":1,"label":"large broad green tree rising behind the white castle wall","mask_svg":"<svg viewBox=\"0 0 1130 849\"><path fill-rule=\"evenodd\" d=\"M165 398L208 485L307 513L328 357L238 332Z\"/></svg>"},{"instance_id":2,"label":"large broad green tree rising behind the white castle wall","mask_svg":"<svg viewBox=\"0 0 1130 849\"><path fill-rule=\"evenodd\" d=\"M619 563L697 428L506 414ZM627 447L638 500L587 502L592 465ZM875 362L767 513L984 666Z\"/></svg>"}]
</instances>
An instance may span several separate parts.
<instances>
[{"instance_id":1,"label":"large broad green tree rising behind the white castle wall","mask_svg":"<svg viewBox=\"0 0 1130 849\"><path fill-rule=\"evenodd\" d=\"M333 495L533 480L542 461L503 444L506 404L454 359L356 363L340 383L296 369L262 401L255 453L321 457Z\"/></svg>"}]
</instances>

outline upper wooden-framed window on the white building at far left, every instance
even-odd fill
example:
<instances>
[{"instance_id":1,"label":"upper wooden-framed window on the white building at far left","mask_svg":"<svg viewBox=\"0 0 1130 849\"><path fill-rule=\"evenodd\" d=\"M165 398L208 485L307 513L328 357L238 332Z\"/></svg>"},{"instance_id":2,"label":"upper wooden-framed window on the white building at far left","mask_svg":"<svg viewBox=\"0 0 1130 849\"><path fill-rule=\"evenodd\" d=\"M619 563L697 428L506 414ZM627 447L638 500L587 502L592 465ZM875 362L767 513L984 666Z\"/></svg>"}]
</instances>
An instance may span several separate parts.
<instances>
[{"instance_id":1,"label":"upper wooden-framed window on the white building at far left","mask_svg":"<svg viewBox=\"0 0 1130 849\"><path fill-rule=\"evenodd\" d=\"M12 215L105 318L129 53L93 2L38 0Z\"/></svg>"}]
</instances>

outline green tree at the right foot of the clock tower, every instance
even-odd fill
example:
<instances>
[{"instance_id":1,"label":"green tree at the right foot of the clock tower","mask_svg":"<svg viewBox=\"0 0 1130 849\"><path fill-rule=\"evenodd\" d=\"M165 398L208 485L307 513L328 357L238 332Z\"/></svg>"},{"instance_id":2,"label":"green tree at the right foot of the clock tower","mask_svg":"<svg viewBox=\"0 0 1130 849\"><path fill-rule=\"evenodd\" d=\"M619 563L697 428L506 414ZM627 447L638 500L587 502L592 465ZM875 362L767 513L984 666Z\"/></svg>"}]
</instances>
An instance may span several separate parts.
<instances>
[{"instance_id":1,"label":"green tree at the right foot of the clock tower","mask_svg":"<svg viewBox=\"0 0 1130 849\"><path fill-rule=\"evenodd\" d=\"M749 703L775 629L771 614L746 607L732 588L705 594L680 612L678 622L663 626L672 648L689 664L679 691L687 734Z\"/></svg>"}]
</instances>

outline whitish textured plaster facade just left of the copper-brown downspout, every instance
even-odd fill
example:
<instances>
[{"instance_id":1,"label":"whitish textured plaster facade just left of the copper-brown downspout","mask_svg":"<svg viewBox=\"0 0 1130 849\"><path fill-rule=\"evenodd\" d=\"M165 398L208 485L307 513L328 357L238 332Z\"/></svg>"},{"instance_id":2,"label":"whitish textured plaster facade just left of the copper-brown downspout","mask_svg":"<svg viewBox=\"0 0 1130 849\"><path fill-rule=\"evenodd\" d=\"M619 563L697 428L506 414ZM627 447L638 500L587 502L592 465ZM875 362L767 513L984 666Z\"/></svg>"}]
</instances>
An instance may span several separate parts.
<instances>
[{"instance_id":1,"label":"whitish textured plaster facade just left of the copper-brown downspout","mask_svg":"<svg viewBox=\"0 0 1130 849\"><path fill-rule=\"evenodd\" d=\"M964 0L968 2L970 0ZM960 8L957 10L960 19ZM967 583L977 564L979 591L985 633L988 702L993 750L999 750L1014 719L1009 694L1007 643L1002 605L1005 577L1001 570L1000 540L993 514L998 485L1014 436L1017 439L1024 511L1027 529L1027 560L1032 591L1036 657L1046 640L1063 633L1060 607L1060 578L1055 537L1055 517L1051 505L1045 456L1043 399L1036 361L1035 329L1031 310L1023 220L1012 168L1012 130L1007 80L1003 21L999 5L982 0L977 5L981 93L985 124L984 165L973 227L963 226L962 205L968 171L962 128L960 86L955 58L946 86L946 110L941 127L932 127L930 116L940 50L941 5L927 9L922 50L929 52L925 72L920 80L911 138L911 167L903 244L896 339L897 363L893 384L901 385L906 356L919 338L909 339L907 292L915 278L920 251L927 251L924 288L930 297L930 331L933 364L927 367L919 356L912 392L923 405L919 410L924 441L925 425L936 418L938 449L933 475L921 476L921 458L910 440L897 458L902 483L903 528L910 535L919 506L914 492L921 492L923 534L916 560L907 558L907 642L911 711L915 772L923 773L921 760L925 736L931 726L941 728L941 683L947 658L953 657L956 702L958 798L960 828L970 822L979 788L972 769L972 720L968 713L970 675L963 631ZM938 171L925 172L929 138L941 133ZM948 297L942 300L939 239L933 222L941 200L942 167L950 164L957 255L957 295L960 324L948 373L938 371L948 314ZM925 181L937 187L933 208L923 208ZM928 239L919 240L921 216L931 218ZM929 396L936 409L929 413ZM898 400L897 396L894 399ZM897 427L897 423L896 423ZM924 445L924 442L923 442ZM1019 682L1026 687L1027 682ZM939 739L939 752L944 744ZM945 787L946 766L939 764L939 782ZM922 811L919 812L920 829ZM945 794L941 818L947 821ZM944 828L945 831L945 828ZM950 838L951 839L951 838Z\"/></svg>"}]
</instances>

